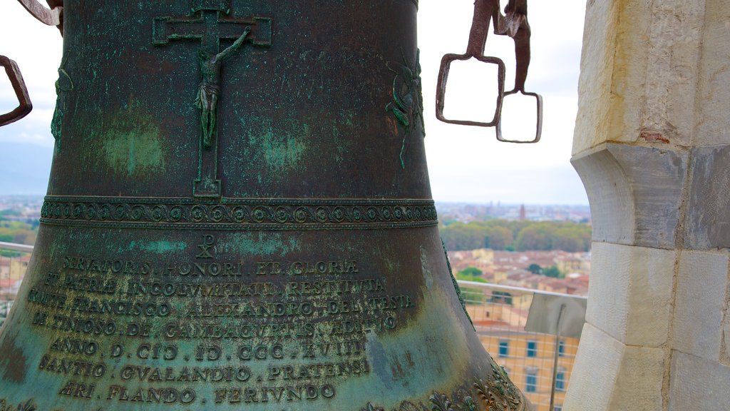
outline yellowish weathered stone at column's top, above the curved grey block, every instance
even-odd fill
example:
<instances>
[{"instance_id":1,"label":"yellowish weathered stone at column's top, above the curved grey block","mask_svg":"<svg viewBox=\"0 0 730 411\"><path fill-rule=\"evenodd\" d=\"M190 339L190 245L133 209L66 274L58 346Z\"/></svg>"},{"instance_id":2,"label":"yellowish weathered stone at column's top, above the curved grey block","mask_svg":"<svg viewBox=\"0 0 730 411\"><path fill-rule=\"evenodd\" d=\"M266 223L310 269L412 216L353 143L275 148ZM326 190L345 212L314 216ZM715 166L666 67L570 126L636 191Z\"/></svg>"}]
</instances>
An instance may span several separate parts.
<instances>
[{"instance_id":1,"label":"yellowish weathered stone at column's top, above the curved grey block","mask_svg":"<svg viewBox=\"0 0 730 411\"><path fill-rule=\"evenodd\" d=\"M688 145L703 20L704 0L588 2L574 155L610 141Z\"/></svg>"}]
</instances>

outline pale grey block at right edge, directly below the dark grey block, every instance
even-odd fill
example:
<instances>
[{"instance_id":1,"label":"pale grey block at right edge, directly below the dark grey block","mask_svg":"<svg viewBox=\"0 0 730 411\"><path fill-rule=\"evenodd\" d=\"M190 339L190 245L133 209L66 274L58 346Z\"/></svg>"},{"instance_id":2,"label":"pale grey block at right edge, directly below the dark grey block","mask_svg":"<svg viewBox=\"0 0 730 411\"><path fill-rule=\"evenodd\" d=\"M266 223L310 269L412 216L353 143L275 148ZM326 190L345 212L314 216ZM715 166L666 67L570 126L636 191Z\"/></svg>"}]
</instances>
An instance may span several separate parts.
<instances>
[{"instance_id":1,"label":"pale grey block at right edge, directly below the dark grey block","mask_svg":"<svg viewBox=\"0 0 730 411\"><path fill-rule=\"evenodd\" d=\"M672 348L719 361L728 278L726 252L683 251L675 291Z\"/></svg>"}]
</instances>

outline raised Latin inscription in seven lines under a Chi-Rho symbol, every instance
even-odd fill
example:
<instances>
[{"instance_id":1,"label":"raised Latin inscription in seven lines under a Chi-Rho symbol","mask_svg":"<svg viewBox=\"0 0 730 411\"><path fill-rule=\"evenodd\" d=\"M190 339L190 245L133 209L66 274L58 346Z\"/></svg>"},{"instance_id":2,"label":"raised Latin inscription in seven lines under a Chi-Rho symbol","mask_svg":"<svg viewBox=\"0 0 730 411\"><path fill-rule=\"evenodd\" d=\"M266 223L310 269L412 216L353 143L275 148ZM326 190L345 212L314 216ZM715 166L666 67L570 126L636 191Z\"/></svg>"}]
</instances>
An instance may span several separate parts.
<instances>
[{"instance_id":1,"label":"raised Latin inscription in seven lines under a Chi-Rho symbol","mask_svg":"<svg viewBox=\"0 0 730 411\"><path fill-rule=\"evenodd\" d=\"M368 334L396 331L416 309L347 256L227 260L214 235L189 247L191 260L66 255L32 284L32 325L56 336L37 369L64 377L58 396L326 401L371 372Z\"/></svg>"}]
</instances>

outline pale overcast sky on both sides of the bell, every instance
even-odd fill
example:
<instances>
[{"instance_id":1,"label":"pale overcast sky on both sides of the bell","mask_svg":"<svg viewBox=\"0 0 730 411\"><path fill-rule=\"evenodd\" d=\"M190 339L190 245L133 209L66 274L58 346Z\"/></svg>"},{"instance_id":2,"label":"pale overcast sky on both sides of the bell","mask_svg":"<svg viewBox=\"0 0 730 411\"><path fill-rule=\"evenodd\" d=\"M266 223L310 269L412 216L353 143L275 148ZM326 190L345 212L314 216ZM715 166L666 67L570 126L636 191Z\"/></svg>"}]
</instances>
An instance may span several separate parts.
<instances>
[{"instance_id":1,"label":"pale overcast sky on both sides of the bell","mask_svg":"<svg viewBox=\"0 0 730 411\"><path fill-rule=\"evenodd\" d=\"M435 116L439 62L445 53L464 53L472 21L473 0L420 0L418 45L426 121L426 155L434 200L441 202L588 204L583 184L570 165L577 111L577 82L585 4L572 0L531 1L531 64L527 91L542 94L542 139L537 144L499 143L493 128L445 124ZM0 128L3 146L30 145L40 164L50 161L50 119L54 83L61 61L61 35L35 20L16 1L0 5L0 54L18 63L34 105L22 120ZM487 56L507 66L506 90L514 82L514 46L509 37L490 34ZM475 60L452 64L447 118L484 120L493 113L496 70ZM491 104L491 105L490 105ZM17 105L9 80L0 75L0 111ZM535 100L507 97L503 106L504 137L531 139ZM1 169L1 165L0 165ZM1 173L9 178L11 173ZM0 187L4 185L0 184ZM0 195L16 194L2 192ZM42 195L40 190L37 194Z\"/></svg>"}]
</instances>

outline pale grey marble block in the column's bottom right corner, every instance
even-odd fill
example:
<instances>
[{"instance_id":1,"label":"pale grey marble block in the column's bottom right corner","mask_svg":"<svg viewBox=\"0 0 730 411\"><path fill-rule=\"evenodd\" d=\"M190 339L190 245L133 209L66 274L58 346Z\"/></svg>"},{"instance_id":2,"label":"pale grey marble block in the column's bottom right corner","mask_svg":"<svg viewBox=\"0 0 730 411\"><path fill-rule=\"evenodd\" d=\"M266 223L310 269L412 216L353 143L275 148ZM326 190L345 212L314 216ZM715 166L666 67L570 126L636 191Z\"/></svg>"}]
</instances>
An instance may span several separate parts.
<instances>
[{"instance_id":1,"label":"pale grey marble block in the column's bottom right corner","mask_svg":"<svg viewBox=\"0 0 730 411\"><path fill-rule=\"evenodd\" d=\"M730 367L673 352L669 411L730 410Z\"/></svg>"}]
</instances>

